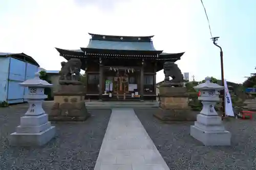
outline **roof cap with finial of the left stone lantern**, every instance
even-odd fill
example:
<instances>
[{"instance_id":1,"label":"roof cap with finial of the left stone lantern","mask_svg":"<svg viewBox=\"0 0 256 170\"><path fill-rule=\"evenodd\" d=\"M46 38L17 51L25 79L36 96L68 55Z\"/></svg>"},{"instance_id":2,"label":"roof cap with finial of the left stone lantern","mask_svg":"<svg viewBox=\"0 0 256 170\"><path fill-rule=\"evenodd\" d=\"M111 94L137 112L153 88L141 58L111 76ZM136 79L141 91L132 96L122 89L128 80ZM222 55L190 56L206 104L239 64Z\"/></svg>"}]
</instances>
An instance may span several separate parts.
<instances>
[{"instance_id":1,"label":"roof cap with finial of the left stone lantern","mask_svg":"<svg viewBox=\"0 0 256 170\"><path fill-rule=\"evenodd\" d=\"M36 72L35 77L33 79L26 80L25 82L19 83L19 84L22 86L25 86L25 87L50 87L50 86L52 86L52 84L48 83L47 81L41 80L39 78L39 76L40 76L39 72Z\"/></svg>"}]
</instances>

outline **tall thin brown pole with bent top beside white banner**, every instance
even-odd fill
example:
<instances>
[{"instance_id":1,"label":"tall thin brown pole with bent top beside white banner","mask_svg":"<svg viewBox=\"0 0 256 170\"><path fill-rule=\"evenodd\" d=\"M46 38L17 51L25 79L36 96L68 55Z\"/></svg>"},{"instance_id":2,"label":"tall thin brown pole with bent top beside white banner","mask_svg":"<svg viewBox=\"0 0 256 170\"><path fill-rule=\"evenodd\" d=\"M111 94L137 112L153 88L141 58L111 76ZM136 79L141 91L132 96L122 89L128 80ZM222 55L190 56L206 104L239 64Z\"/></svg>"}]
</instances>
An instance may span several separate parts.
<instances>
[{"instance_id":1,"label":"tall thin brown pole with bent top beside white banner","mask_svg":"<svg viewBox=\"0 0 256 170\"><path fill-rule=\"evenodd\" d=\"M214 41L214 44L216 46L218 46L220 48L220 57L221 57L221 83L222 83L222 86L224 86L224 68L223 68L223 52L222 52L222 48L220 45L217 44L216 41L218 41L218 38L220 37L213 37L211 38L212 41ZM222 114L222 117L221 119L223 120L223 118L225 117L226 113L225 113L225 90L223 89L223 95L222 95L222 111L223 111L223 114Z\"/></svg>"}]
</instances>

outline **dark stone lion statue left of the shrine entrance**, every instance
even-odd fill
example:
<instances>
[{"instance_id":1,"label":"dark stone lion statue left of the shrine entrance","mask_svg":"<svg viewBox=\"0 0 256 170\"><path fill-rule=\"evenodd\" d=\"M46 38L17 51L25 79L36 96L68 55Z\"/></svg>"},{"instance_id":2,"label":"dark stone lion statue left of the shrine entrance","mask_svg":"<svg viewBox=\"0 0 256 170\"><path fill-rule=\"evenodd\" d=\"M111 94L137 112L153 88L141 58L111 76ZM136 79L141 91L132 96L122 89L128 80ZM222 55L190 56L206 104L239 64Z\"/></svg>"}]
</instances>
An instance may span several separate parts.
<instances>
[{"instance_id":1,"label":"dark stone lion statue left of the shrine entrance","mask_svg":"<svg viewBox=\"0 0 256 170\"><path fill-rule=\"evenodd\" d=\"M59 71L59 80L80 80L81 61L72 58L67 62L61 62L61 70Z\"/></svg>"}]
</instances>

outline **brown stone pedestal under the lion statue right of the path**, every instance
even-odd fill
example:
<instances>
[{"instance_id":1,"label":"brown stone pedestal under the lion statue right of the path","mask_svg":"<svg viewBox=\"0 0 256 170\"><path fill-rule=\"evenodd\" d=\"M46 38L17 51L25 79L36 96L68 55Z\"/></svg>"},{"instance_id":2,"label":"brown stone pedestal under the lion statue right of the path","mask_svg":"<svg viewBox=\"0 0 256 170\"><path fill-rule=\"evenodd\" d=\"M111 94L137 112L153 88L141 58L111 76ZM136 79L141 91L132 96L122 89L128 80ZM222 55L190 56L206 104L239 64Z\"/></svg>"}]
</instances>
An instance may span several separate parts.
<instances>
[{"instance_id":1,"label":"brown stone pedestal under the lion statue right of the path","mask_svg":"<svg viewBox=\"0 0 256 170\"><path fill-rule=\"evenodd\" d=\"M155 117L163 122L195 121L196 113L188 106L188 93L184 87L159 87L160 105Z\"/></svg>"}]
</instances>

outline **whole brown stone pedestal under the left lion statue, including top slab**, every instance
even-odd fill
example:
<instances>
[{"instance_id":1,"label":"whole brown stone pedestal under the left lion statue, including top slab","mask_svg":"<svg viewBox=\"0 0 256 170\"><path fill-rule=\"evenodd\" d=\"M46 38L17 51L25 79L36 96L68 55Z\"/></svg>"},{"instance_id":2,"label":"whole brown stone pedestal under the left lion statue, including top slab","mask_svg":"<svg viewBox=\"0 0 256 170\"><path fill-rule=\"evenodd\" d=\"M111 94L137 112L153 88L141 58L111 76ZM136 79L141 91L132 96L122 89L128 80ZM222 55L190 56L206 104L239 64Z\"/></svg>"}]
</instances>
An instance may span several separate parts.
<instances>
[{"instance_id":1,"label":"whole brown stone pedestal under the left lion statue, including top slab","mask_svg":"<svg viewBox=\"0 0 256 170\"><path fill-rule=\"evenodd\" d=\"M51 121L84 121L90 117L84 102L82 85L60 85L54 92L54 105L49 114Z\"/></svg>"}]
</instances>

